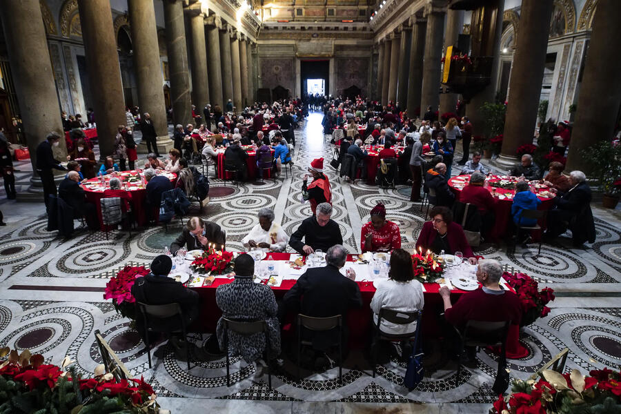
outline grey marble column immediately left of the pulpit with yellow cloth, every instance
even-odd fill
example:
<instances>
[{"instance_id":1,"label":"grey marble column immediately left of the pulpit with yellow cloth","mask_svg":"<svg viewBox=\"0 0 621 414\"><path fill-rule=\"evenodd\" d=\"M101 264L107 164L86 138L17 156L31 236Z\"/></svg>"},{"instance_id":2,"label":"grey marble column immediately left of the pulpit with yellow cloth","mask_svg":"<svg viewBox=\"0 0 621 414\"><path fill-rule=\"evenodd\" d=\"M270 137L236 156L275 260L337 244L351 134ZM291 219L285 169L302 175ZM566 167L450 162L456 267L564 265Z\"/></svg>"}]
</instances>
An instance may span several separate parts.
<instances>
[{"instance_id":1,"label":"grey marble column immediately left of the pulpit with yellow cloth","mask_svg":"<svg viewBox=\"0 0 621 414\"><path fill-rule=\"evenodd\" d=\"M425 35L425 53L423 58L423 79L420 100L420 113L424 114L427 106L438 110L440 105L440 81L442 81L442 37L444 35L444 8L426 5L424 14L427 18Z\"/></svg>"}]
</instances>

